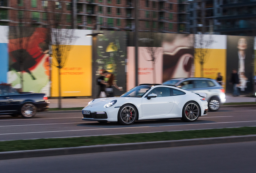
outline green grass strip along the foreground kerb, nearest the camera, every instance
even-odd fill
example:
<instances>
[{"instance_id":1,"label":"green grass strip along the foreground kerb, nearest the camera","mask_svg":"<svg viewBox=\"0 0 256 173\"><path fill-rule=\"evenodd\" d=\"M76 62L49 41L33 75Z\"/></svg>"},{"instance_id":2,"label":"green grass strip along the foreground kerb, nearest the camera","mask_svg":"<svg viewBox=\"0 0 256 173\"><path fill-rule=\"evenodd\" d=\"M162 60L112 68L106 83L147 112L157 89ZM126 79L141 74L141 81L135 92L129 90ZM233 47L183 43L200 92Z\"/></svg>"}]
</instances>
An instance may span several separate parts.
<instances>
[{"instance_id":1,"label":"green grass strip along the foreground kerb, nearest the camera","mask_svg":"<svg viewBox=\"0 0 256 173\"><path fill-rule=\"evenodd\" d=\"M130 135L109 135L93 137L73 137L54 139L31 139L17 141L0 141L0 152L62 147L80 147L89 145L139 143L151 141L170 141L181 139L229 137L256 135L256 127L239 127L209 130L191 130L159 133L140 133Z\"/></svg>"}]
</instances>

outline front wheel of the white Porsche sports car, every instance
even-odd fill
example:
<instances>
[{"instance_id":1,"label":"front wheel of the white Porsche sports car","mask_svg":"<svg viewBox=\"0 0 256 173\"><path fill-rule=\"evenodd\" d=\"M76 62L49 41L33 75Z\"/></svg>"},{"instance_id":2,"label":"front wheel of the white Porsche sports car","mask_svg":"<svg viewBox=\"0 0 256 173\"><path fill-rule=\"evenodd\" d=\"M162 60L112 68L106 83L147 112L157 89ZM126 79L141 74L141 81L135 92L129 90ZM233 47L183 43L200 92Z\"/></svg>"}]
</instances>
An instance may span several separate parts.
<instances>
[{"instance_id":1,"label":"front wheel of the white Porsche sports car","mask_svg":"<svg viewBox=\"0 0 256 173\"><path fill-rule=\"evenodd\" d=\"M131 125L137 117L137 112L134 106L124 105L118 111L118 123L122 125Z\"/></svg>"}]
</instances>

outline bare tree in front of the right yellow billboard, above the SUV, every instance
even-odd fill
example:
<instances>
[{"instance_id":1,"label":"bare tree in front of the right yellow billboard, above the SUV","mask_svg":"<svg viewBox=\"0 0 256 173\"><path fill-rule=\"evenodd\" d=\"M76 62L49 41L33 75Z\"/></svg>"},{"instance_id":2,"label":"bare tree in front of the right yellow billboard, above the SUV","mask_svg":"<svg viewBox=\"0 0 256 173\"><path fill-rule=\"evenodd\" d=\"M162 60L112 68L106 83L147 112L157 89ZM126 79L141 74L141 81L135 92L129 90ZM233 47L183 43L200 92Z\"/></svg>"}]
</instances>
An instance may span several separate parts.
<instances>
[{"instance_id":1,"label":"bare tree in front of the right yellow billboard, above the SUV","mask_svg":"<svg viewBox=\"0 0 256 173\"><path fill-rule=\"evenodd\" d=\"M214 43L213 35L195 34L194 42L194 58L200 64L201 77L204 77L204 64L208 61L211 45Z\"/></svg>"}]
</instances>

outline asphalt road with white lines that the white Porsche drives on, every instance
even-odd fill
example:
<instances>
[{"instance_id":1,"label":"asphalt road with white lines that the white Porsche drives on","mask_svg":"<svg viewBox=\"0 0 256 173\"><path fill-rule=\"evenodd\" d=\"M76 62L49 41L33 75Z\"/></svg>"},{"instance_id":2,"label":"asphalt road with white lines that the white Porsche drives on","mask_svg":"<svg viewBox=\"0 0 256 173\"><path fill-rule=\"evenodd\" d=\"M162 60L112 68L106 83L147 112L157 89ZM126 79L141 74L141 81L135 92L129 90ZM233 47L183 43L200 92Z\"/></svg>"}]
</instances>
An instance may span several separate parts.
<instances>
[{"instance_id":1,"label":"asphalt road with white lines that the white Porsche drives on","mask_svg":"<svg viewBox=\"0 0 256 173\"><path fill-rule=\"evenodd\" d=\"M82 121L82 117L77 111L38 113L32 119L0 116L0 141L256 126L256 107L222 107L193 123L170 119L122 126Z\"/></svg>"}]
</instances>

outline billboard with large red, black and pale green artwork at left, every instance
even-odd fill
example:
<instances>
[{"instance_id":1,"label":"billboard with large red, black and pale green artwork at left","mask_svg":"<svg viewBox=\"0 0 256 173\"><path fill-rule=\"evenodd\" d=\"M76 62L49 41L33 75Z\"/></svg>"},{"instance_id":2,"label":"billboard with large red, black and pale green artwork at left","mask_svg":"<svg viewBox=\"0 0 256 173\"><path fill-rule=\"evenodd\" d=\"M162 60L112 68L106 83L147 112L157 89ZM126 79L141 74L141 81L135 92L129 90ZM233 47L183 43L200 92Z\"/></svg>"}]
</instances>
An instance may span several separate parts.
<instances>
[{"instance_id":1,"label":"billboard with large red, black and pale green artwork at left","mask_svg":"<svg viewBox=\"0 0 256 173\"><path fill-rule=\"evenodd\" d=\"M14 88L21 88L22 72L24 92L46 93L49 96L49 40L46 28L12 26L9 29L8 83L12 83Z\"/></svg>"}]
</instances>

